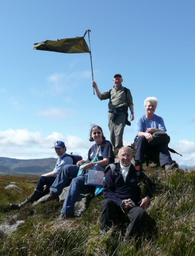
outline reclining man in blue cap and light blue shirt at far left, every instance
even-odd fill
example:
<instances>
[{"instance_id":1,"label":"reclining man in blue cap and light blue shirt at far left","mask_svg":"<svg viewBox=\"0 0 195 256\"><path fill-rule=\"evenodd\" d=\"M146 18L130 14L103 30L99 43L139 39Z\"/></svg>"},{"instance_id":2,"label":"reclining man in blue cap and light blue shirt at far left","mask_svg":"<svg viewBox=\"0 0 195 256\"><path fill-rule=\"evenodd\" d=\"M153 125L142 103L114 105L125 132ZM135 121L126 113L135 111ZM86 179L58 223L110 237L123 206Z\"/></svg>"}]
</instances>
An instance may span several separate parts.
<instances>
[{"instance_id":1,"label":"reclining man in blue cap and light blue shirt at far left","mask_svg":"<svg viewBox=\"0 0 195 256\"><path fill-rule=\"evenodd\" d=\"M33 203L34 201L39 200L39 198L49 193L49 188L53 184L54 180L56 180L56 177L59 175L64 166L73 165L73 158L66 153L66 145L63 141L56 141L53 148L55 148L56 155L59 156L56 162L56 167L52 172L41 175L34 189L34 192L29 197L27 197L24 202L11 203L10 207L12 210L24 207L24 205L27 203Z\"/></svg>"}]
</instances>

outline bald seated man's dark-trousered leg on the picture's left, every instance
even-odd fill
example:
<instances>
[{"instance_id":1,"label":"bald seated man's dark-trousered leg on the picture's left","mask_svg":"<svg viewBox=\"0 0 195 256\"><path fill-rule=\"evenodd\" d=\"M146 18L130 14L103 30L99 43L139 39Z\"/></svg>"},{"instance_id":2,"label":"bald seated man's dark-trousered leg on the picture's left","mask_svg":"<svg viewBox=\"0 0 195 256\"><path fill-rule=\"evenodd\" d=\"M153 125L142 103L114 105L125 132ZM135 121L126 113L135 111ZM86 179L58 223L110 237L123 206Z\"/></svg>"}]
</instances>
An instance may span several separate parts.
<instances>
[{"instance_id":1,"label":"bald seated man's dark-trousered leg on the picture's left","mask_svg":"<svg viewBox=\"0 0 195 256\"><path fill-rule=\"evenodd\" d=\"M101 230L106 227L111 227L116 220L116 215L119 211L118 205L111 199L104 199L101 203Z\"/></svg>"}]
</instances>

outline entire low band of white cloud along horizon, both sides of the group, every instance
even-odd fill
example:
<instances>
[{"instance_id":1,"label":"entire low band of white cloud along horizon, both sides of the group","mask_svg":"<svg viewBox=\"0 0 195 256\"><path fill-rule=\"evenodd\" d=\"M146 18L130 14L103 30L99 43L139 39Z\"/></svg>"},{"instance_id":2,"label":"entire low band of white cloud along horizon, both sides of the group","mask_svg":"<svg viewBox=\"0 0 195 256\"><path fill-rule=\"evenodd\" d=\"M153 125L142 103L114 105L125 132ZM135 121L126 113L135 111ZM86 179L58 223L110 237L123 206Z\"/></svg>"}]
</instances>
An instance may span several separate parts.
<instances>
[{"instance_id":1,"label":"entire low band of white cloud along horizon, both sides of the group","mask_svg":"<svg viewBox=\"0 0 195 256\"><path fill-rule=\"evenodd\" d=\"M93 145L79 136L63 136L58 131L44 136L40 131L29 131L26 128L9 129L0 131L0 156L18 159L55 157L56 153L52 147L57 140L65 142L68 153L82 155L84 159L87 158L88 150ZM131 145L131 141L124 141L124 145ZM195 166L194 141L181 140L178 144L169 146L183 155L171 153L173 160L179 165Z\"/></svg>"}]
</instances>

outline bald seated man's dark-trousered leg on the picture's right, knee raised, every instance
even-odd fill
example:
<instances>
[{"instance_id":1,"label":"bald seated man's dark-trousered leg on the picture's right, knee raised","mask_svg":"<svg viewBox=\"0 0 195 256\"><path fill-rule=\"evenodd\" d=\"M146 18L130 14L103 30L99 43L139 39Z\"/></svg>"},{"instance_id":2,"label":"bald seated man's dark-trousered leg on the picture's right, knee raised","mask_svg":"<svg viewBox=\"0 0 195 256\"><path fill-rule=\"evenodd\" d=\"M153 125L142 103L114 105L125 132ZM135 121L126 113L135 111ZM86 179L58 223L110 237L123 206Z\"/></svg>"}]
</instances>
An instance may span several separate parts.
<instances>
[{"instance_id":1,"label":"bald seated man's dark-trousered leg on the picture's right, knee raised","mask_svg":"<svg viewBox=\"0 0 195 256\"><path fill-rule=\"evenodd\" d=\"M126 237L133 237L135 235L139 235L146 219L145 210L141 207L134 207L129 211L128 217L130 220L130 224L128 226Z\"/></svg>"}]
</instances>

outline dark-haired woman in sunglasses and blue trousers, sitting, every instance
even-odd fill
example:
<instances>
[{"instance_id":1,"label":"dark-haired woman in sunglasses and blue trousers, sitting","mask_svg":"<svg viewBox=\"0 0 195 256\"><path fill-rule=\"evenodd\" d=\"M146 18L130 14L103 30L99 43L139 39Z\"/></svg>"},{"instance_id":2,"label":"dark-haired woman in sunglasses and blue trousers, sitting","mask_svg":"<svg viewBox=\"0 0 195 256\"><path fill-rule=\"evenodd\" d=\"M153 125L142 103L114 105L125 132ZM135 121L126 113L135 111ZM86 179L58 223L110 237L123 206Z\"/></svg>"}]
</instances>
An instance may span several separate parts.
<instances>
[{"instance_id":1,"label":"dark-haired woman in sunglasses and blue trousers, sitting","mask_svg":"<svg viewBox=\"0 0 195 256\"><path fill-rule=\"evenodd\" d=\"M61 170L61 173L59 173L58 177L50 188L49 197L42 201L47 202L49 200L58 198L63 192L63 188L68 186L69 177L73 178L64 201L63 209L61 210L61 215L59 218L60 220L74 217L74 204L76 203L81 190L83 190L85 187L89 187L89 185L84 185L85 171L97 163L101 166L107 166L109 163L114 163L113 146L111 145L110 141L106 140L100 126L94 125L91 128L89 141L95 141L95 143L93 146L91 146L91 148L89 148L88 160L78 161L77 165L64 166L64 169ZM94 158L96 158L95 161ZM83 172L77 176L80 166L82 167Z\"/></svg>"}]
</instances>

